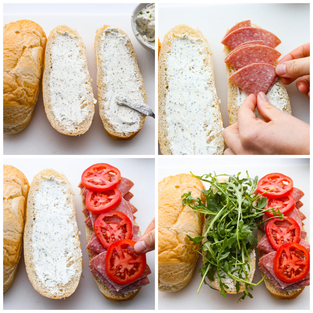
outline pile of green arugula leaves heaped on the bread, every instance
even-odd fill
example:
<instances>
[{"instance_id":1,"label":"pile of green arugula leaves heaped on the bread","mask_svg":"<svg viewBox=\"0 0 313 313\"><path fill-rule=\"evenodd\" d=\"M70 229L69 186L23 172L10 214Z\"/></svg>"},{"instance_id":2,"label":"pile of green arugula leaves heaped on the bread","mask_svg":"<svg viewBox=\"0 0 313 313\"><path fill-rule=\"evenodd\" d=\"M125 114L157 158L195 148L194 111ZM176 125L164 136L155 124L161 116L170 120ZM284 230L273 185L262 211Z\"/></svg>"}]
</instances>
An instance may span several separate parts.
<instances>
[{"instance_id":1,"label":"pile of green arugula leaves heaped on the bread","mask_svg":"<svg viewBox=\"0 0 313 313\"><path fill-rule=\"evenodd\" d=\"M190 173L192 174L192 172ZM238 301L244 299L246 295L253 298L248 292L248 286L253 290L252 286L259 285L265 278L264 275L263 279L257 284L253 284L248 280L247 269L251 271L248 254L258 242L252 231L265 222L262 219L260 220L265 211L271 211L274 215L278 214L280 219L284 218L279 209L278 212L275 212L274 208L264 209L267 200L266 197L259 199L257 206L255 206L253 204L254 201L260 197L260 194L253 194L258 183L258 177L252 179L247 172L247 178L239 179L239 174L237 176L227 174L216 175L215 172L214 176L211 173L202 176L192 174L204 182L211 183L211 187L208 190L202 190L206 195L206 205L201 199L193 198L191 191L182 195L182 198L184 198L182 203L184 205L188 205L196 212L206 214L205 218L210 217L208 224L206 224L207 230L204 236L192 238L187 235L189 240L193 241L193 244L200 244L205 237L208 239L208 241L201 244L200 248L196 250L202 255L203 260L205 260L203 268L199 269L202 280L197 292L199 293L203 282L210 288L217 290L205 281L206 276L210 280L214 280L212 273L215 272L221 289L221 295L225 298L225 288L228 289L228 286L221 280L221 278L226 278L226 276L220 275L220 271L222 270L225 275L237 281L237 292L239 292L240 283L245 284L244 294ZM229 179L225 182L218 182L218 176L228 176ZM211 180L208 180L208 178ZM250 187L249 190L248 186ZM267 220L269 219L271 218ZM202 250L202 253L200 250ZM232 266L233 270L231 271ZM234 275L235 272L237 272L237 275Z\"/></svg>"}]
</instances>

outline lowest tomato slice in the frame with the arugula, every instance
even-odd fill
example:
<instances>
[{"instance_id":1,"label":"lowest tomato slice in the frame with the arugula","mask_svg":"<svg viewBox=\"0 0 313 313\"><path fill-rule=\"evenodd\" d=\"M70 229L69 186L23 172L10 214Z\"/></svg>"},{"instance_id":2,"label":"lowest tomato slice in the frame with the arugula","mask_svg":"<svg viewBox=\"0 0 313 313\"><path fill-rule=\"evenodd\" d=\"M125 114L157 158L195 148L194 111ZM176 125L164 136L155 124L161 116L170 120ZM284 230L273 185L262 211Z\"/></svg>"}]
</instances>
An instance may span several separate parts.
<instances>
[{"instance_id":1,"label":"lowest tomato slice in the frame with the arugula","mask_svg":"<svg viewBox=\"0 0 313 313\"><path fill-rule=\"evenodd\" d=\"M301 280L310 270L310 253L301 244L282 244L275 253L274 272L287 283Z\"/></svg>"}]
</instances>

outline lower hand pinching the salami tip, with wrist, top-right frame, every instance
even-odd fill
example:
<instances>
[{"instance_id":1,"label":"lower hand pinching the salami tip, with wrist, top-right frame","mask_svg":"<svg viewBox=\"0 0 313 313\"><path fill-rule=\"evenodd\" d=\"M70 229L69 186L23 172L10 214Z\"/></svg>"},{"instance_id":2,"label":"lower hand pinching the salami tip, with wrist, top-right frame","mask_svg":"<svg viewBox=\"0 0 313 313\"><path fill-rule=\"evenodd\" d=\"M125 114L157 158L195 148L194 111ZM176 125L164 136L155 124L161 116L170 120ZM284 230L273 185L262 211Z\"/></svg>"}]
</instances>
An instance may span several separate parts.
<instances>
[{"instance_id":1,"label":"lower hand pinching the salami tip, with wrist, top-right frame","mask_svg":"<svg viewBox=\"0 0 313 313\"><path fill-rule=\"evenodd\" d=\"M265 121L255 117L256 105ZM310 154L310 125L271 105L263 92L249 95L237 115L223 131L224 155Z\"/></svg>"}]
</instances>

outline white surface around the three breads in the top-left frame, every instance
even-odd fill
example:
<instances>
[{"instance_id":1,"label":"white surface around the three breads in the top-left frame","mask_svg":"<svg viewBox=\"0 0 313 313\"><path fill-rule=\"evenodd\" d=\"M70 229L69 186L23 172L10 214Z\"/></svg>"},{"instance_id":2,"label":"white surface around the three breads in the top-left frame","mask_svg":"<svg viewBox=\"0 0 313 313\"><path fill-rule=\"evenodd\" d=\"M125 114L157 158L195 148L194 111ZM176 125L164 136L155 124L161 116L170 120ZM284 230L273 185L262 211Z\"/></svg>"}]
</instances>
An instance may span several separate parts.
<instances>
[{"instance_id":1,"label":"white surface around the three breads in the top-left frame","mask_svg":"<svg viewBox=\"0 0 313 313\"><path fill-rule=\"evenodd\" d=\"M76 28L87 48L88 69L93 80L91 85L97 100L97 65L94 47L96 30L105 24L122 29L134 46L139 69L145 82L147 104L155 112L153 55L137 42L131 28L131 14L137 4L4 4L3 25L20 19L30 19L43 28L47 38L50 31L58 25L65 24L70 28ZM147 116L141 131L133 139L121 141L110 138L104 130L98 102L95 105L91 126L85 134L76 137L61 134L51 126L44 111L41 79L38 101L31 121L17 134L3 134L3 153L7 155L151 155L155 153L154 134L155 120Z\"/></svg>"}]
</instances>

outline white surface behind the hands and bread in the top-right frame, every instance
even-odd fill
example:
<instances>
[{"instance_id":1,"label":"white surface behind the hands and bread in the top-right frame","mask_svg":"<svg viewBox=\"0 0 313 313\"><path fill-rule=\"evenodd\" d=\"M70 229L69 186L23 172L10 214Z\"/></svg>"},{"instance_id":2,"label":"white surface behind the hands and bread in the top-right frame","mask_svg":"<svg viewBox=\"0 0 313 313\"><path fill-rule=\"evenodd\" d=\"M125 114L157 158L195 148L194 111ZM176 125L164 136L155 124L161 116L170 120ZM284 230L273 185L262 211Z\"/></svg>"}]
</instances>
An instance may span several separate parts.
<instances>
[{"instance_id":1,"label":"white surface behind the hands and bread in the top-right frame","mask_svg":"<svg viewBox=\"0 0 313 313\"><path fill-rule=\"evenodd\" d=\"M281 58L310 41L310 4L164 4L158 5L158 37L161 44L167 32L176 25L187 24L201 30L208 40L213 56L215 86L221 100L224 127L229 126L227 110L227 74L224 45L221 40L228 28L244 20L274 33L281 40L276 49ZM292 115L310 123L310 100L293 82L286 85ZM159 154L161 154L159 148Z\"/></svg>"}]
</instances>

